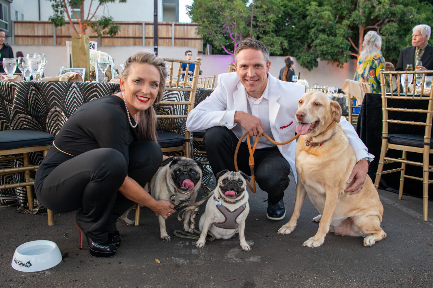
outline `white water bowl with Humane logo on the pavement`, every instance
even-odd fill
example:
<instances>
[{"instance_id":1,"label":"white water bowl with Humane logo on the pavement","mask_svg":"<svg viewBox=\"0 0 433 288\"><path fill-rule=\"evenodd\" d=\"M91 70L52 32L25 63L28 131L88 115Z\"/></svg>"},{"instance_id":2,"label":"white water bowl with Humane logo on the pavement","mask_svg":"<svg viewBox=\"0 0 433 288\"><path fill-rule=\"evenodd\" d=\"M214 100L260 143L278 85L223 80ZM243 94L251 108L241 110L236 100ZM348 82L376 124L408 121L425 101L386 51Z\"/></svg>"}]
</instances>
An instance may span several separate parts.
<instances>
[{"instance_id":1,"label":"white water bowl with Humane logo on the pavement","mask_svg":"<svg viewBox=\"0 0 433 288\"><path fill-rule=\"evenodd\" d=\"M60 250L52 241L36 240L19 245L13 253L12 268L22 272L36 272L60 263Z\"/></svg>"}]
</instances>

